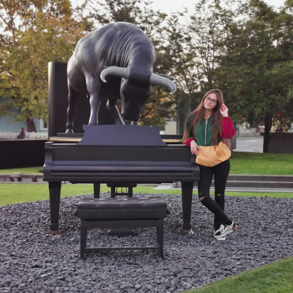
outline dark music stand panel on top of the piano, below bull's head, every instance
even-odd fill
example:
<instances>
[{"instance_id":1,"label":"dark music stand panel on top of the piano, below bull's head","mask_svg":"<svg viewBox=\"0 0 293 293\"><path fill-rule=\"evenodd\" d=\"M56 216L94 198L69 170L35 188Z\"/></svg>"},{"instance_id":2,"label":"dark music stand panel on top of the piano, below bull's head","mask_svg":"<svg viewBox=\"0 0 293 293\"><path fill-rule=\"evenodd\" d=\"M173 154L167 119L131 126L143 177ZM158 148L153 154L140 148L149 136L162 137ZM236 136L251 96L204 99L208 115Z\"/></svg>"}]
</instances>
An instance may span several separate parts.
<instances>
[{"instance_id":1,"label":"dark music stand panel on top of the piano, below bull's head","mask_svg":"<svg viewBox=\"0 0 293 293\"><path fill-rule=\"evenodd\" d=\"M82 146L165 146L160 126L83 125L83 129Z\"/></svg>"}]
</instances>

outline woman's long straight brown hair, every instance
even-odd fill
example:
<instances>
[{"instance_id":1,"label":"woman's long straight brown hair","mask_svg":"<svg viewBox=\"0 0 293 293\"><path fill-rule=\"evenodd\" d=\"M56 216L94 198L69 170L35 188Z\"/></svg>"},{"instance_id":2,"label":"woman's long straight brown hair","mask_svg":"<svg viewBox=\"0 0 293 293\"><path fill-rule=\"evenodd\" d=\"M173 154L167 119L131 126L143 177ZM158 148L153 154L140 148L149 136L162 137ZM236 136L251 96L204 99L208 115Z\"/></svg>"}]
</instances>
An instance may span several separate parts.
<instances>
[{"instance_id":1,"label":"woman's long straight brown hair","mask_svg":"<svg viewBox=\"0 0 293 293\"><path fill-rule=\"evenodd\" d=\"M205 100L205 97L208 96L211 93L214 93L217 96L217 98L218 98L217 105L213 109L213 113L212 113L212 115L214 115L214 132L212 133L212 145L219 144L220 139L221 139L221 127L222 127L222 120L223 120L223 116L220 113L220 108L222 106L222 103L224 103L224 99L223 99L222 91L220 91L217 88L212 89L212 90L209 90L203 96L203 98L202 98L200 104L197 106L197 108L188 115L188 117L189 117L190 115L193 115L194 114L194 117L193 117L193 119L192 119L192 121L191 121L188 129L186 129L186 121L185 121L185 129L184 129L184 135L183 135L183 139L182 139L183 143L190 136L190 133L193 133L193 129L194 129L194 127L195 127L196 124L197 124L197 129L196 129L196 134L197 134L198 127L200 125L200 123L197 123L197 122L200 122L201 118L204 115L204 111L205 111L205 108L204 108L204 100ZM223 142L228 147L231 146L231 143L230 143L230 140L229 139L223 139Z\"/></svg>"}]
</instances>

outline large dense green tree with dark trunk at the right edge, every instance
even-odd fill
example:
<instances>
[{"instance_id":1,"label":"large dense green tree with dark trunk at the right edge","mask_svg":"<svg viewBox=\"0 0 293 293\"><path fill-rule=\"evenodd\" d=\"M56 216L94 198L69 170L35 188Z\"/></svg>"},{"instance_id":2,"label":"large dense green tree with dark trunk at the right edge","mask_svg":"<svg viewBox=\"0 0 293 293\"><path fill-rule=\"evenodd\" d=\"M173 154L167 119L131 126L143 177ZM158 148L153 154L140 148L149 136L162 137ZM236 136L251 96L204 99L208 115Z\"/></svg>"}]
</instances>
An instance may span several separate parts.
<instances>
[{"instance_id":1,"label":"large dense green tree with dark trunk at the right edge","mask_svg":"<svg viewBox=\"0 0 293 293\"><path fill-rule=\"evenodd\" d=\"M289 125L290 80L292 80L292 14L276 12L260 0L242 8L242 18L231 30L228 54L221 60L217 78L230 90L239 113L251 123L264 122L263 151L268 152L270 129L282 112L282 127ZM289 50L288 50L289 49ZM286 113L285 113L286 112ZM287 117L287 118L285 118ZM285 122L286 121L286 122Z\"/></svg>"}]
</instances>

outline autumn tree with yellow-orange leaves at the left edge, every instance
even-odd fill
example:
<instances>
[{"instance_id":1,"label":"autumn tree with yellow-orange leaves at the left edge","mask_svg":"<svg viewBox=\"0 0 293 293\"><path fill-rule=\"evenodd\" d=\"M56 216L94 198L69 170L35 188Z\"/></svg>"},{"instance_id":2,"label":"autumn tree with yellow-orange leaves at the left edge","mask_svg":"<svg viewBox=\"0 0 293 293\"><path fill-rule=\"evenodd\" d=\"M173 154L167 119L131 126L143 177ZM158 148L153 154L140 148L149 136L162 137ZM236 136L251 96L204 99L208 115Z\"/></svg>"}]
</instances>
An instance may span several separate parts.
<instances>
[{"instance_id":1,"label":"autumn tree with yellow-orange leaves at the left edge","mask_svg":"<svg viewBox=\"0 0 293 293\"><path fill-rule=\"evenodd\" d=\"M47 120L47 64L67 61L90 24L69 0L1 1L0 116L13 114L36 131Z\"/></svg>"}]
</instances>

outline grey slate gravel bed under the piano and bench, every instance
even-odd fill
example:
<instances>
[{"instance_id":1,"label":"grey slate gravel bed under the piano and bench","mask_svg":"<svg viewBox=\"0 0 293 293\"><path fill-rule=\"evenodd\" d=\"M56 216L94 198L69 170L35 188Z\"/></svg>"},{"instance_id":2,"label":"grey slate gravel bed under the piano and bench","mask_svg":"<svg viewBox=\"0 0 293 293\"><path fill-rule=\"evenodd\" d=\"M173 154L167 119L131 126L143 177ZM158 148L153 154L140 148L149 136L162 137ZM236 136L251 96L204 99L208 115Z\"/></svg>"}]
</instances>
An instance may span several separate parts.
<instances>
[{"instance_id":1,"label":"grey slate gravel bed under the piano and bench","mask_svg":"<svg viewBox=\"0 0 293 293\"><path fill-rule=\"evenodd\" d=\"M101 197L109 197L107 193ZM194 195L193 235L180 234L181 195L163 196L171 209L164 220L164 256L158 251L86 252L79 259L80 225L73 212L80 198L61 198L62 236L51 236L49 200L1 209L0 292L182 292L293 255L293 199L226 197L226 212L238 230L226 241L213 237L212 214ZM117 238L89 231L88 245L153 246L156 229Z\"/></svg>"}]
</instances>

